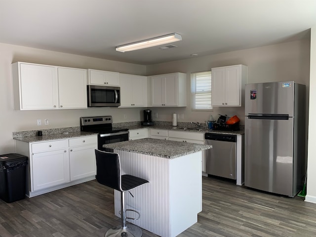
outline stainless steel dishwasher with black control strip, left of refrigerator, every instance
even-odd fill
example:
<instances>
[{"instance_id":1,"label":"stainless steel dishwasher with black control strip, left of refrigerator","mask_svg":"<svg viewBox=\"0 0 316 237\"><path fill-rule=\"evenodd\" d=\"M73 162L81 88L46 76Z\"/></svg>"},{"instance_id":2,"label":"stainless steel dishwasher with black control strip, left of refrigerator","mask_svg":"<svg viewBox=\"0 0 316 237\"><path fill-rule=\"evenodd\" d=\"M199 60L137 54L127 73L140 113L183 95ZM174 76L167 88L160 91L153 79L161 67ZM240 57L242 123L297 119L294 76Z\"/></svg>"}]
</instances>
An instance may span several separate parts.
<instances>
[{"instance_id":1,"label":"stainless steel dishwasher with black control strip, left of refrigerator","mask_svg":"<svg viewBox=\"0 0 316 237\"><path fill-rule=\"evenodd\" d=\"M205 151L207 174L236 179L237 136L205 133L205 144L212 148Z\"/></svg>"}]
</instances>

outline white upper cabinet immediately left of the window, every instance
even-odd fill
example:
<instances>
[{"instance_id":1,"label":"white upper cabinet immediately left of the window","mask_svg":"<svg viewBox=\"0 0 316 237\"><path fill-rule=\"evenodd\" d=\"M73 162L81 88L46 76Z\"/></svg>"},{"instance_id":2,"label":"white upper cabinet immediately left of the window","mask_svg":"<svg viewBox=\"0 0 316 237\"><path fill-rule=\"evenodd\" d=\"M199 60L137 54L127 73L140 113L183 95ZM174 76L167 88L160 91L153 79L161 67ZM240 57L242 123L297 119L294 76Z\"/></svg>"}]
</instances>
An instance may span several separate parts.
<instances>
[{"instance_id":1,"label":"white upper cabinet immediately left of the window","mask_svg":"<svg viewBox=\"0 0 316 237\"><path fill-rule=\"evenodd\" d=\"M187 106L187 75L172 73L151 77L153 107Z\"/></svg>"}]
</instances>

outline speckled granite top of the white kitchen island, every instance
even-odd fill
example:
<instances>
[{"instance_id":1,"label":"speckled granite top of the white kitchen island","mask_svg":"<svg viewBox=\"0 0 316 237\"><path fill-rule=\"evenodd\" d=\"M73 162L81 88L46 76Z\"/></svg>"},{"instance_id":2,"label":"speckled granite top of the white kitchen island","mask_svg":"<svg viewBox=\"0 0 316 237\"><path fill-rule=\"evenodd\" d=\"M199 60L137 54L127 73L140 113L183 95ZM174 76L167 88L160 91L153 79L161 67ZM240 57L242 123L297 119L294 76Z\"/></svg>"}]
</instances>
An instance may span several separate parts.
<instances>
[{"instance_id":1,"label":"speckled granite top of the white kitchen island","mask_svg":"<svg viewBox=\"0 0 316 237\"><path fill-rule=\"evenodd\" d=\"M176 142L153 138L105 144L103 147L168 159L182 157L211 148L210 145Z\"/></svg>"}]
</instances>

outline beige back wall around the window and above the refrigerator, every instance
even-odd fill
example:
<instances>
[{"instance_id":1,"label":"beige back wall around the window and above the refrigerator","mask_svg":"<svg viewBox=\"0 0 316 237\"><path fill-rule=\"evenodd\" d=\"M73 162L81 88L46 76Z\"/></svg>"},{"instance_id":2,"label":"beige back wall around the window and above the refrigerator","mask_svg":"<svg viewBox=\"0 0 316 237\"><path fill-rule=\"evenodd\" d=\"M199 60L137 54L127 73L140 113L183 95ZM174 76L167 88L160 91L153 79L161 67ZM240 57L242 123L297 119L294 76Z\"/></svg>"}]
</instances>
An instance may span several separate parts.
<instances>
[{"instance_id":1,"label":"beige back wall around the window and above the refrigerator","mask_svg":"<svg viewBox=\"0 0 316 237\"><path fill-rule=\"evenodd\" d=\"M211 114L215 119L218 118L218 114L236 114L240 118L241 124L244 124L244 107L214 107L213 112L196 112L192 111L190 107L190 73L236 64L248 66L248 83L295 80L298 83L305 84L308 103L309 39L147 66L147 75L172 72L187 73L187 107L152 108L153 113L158 113L158 118L154 119L171 121L172 114L177 113L185 115L184 119L178 119L178 121L204 122L208 120Z\"/></svg>"}]
</instances>

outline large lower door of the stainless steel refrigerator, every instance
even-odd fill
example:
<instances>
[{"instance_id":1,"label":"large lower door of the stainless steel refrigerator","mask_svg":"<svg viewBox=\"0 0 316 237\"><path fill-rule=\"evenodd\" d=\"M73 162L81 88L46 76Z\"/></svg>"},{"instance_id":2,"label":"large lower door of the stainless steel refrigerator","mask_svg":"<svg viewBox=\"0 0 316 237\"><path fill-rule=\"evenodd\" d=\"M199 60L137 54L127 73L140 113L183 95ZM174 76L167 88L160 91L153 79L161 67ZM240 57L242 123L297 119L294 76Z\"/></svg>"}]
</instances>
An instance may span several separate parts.
<instances>
[{"instance_id":1,"label":"large lower door of the stainless steel refrigerator","mask_svg":"<svg viewBox=\"0 0 316 237\"><path fill-rule=\"evenodd\" d=\"M245 118L245 186L293 196L293 124Z\"/></svg>"}]
</instances>

